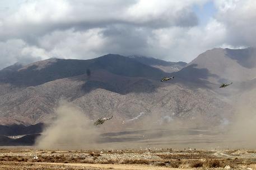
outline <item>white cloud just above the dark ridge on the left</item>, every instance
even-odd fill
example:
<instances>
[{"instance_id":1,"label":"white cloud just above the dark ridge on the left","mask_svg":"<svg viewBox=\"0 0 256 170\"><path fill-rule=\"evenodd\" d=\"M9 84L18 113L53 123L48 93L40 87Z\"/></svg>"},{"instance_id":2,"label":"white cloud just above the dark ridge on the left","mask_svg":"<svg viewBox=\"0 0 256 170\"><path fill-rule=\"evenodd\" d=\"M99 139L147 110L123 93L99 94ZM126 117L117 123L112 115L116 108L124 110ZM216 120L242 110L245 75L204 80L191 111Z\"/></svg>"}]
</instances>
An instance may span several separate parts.
<instances>
[{"instance_id":1,"label":"white cloud just above the dark ridge on the left","mask_svg":"<svg viewBox=\"0 0 256 170\"><path fill-rule=\"evenodd\" d=\"M54 31L40 37L39 46L48 50L52 57L84 59L101 54L100 49L105 45L103 29L87 31Z\"/></svg>"}]
</instances>

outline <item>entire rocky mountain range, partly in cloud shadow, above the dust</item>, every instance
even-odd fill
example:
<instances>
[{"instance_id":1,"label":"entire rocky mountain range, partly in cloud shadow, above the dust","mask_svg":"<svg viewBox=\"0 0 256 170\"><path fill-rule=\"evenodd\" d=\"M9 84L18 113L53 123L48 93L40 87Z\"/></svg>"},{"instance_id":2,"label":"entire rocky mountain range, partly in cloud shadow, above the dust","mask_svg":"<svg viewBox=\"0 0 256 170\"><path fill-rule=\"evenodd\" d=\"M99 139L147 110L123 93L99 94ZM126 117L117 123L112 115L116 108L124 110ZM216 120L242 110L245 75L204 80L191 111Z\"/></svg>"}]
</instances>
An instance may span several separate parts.
<instances>
[{"instance_id":1,"label":"entire rocky mountain range, partly in cloud shadow, above the dust","mask_svg":"<svg viewBox=\"0 0 256 170\"><path fill-rule=\"evenodd\" d=\"M80 107L90 120L114 115L108 127L112 130L143 127L148 121L152 126L179 120L197 122L198 127L220 125L231 119L232 107L229 98L217 92L218 82L249 79L252 84L255 68L239 63L239 56L245 53L246 59L253 60L253 50L206 51L171 73L175 79L167 82L160 80L170 73L152 67L156 60L145 62L144 58L113 54L91 60L49 59L3 69L0 124L49 122L64 98ZM168 62L157 62L169 67ZM228 76L231 70L241 74L248 71L248 77Z\"/></svg>"}]
</instances>

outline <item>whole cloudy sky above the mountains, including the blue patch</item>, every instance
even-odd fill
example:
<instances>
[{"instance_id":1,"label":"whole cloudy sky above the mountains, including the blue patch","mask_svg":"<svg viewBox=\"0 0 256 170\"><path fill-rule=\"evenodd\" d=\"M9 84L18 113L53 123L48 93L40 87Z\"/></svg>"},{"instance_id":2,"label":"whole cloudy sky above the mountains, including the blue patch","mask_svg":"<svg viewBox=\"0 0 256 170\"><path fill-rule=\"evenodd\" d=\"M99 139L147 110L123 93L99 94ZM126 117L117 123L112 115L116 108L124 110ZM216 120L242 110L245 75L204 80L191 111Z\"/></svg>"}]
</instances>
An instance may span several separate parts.
<instances>
[{"instance_id":1,"label":"whole cloudy sky above the mountains, including the blue patch","mask_svg":"<svg viewBox=\"0 0 256 170\"><path fill-rule=\"evenodd\" d=\"M0 69L48 58L190 62L256 44L255 0L1 0Z\"/></svg>"}]
</instances>

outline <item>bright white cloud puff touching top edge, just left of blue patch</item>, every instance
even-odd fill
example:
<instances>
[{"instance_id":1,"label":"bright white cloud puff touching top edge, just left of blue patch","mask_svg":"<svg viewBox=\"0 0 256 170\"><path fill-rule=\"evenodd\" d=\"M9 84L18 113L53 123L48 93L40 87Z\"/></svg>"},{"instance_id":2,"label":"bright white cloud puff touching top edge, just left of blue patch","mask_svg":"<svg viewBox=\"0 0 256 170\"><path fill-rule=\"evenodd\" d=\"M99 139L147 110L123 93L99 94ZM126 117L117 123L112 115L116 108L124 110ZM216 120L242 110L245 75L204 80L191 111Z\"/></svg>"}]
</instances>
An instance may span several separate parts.
<instances>
[{"instance_id":1,"label":"bright white cloud puff touching top edge, just left of blue patch","mask_svg":"<svg viewBox=\"0 0 256 170\"><path fill-rule=\"evenodd\" d=\"M155 25L156 27L168 26L193 26L197 23L195 13L192 12L193 4L201 4L205 0L168 1L168 0L140 0L130 6L125 17L128 21L141 24Z\"/></svg>"}]
</instances>

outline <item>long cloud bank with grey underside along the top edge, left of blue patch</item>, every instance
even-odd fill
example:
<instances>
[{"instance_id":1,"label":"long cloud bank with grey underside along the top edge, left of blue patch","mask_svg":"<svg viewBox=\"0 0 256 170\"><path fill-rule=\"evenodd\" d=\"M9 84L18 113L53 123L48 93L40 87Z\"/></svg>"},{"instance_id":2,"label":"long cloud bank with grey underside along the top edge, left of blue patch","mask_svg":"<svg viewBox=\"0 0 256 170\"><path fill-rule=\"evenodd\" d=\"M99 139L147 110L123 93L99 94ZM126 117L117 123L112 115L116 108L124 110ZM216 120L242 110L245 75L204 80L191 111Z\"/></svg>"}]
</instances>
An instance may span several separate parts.
<instances>
[{"instance_id":1,"label":"long cloud bank with grey underside along the top edge, left of blue patch","mask_svg":"<svg viewBox=\"0 0 256 170\"><path fill-rule=\"evenodd\" d=\"M190 3L192 4L192 3ZM2 21L0 37L42 35L49 31L91 29L116 23L136 26L194 26L197 17L185 3L170 1L27 1ZM4 31L6 30L6 31Z\"/></svg>"}]
</instances>

